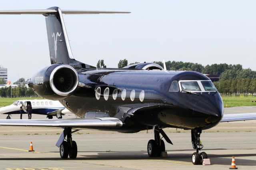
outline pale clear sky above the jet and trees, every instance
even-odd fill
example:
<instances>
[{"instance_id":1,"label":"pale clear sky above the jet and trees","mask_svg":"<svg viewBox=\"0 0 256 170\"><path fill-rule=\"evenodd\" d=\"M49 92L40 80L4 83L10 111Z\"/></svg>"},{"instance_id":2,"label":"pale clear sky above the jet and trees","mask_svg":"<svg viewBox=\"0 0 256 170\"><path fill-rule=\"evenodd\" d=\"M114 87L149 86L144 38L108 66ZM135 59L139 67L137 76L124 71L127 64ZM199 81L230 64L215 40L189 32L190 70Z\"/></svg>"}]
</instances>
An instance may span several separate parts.
<instances>
[{"instance_id":1,"label":"pale clear sky above the jet and trees","mask_svg":"<svg viewBox=\"0 0 256 170\"><path fill-rule=\"evenodd\" d=\"M64 15L73 55L89 65L165 59L256 70L255 0L8 0L0 10L51 6L132 12ZM8 68L9 81L50 65L44 16L0 15L0 23L0 65Z\"/></svg>"}]
</instances>

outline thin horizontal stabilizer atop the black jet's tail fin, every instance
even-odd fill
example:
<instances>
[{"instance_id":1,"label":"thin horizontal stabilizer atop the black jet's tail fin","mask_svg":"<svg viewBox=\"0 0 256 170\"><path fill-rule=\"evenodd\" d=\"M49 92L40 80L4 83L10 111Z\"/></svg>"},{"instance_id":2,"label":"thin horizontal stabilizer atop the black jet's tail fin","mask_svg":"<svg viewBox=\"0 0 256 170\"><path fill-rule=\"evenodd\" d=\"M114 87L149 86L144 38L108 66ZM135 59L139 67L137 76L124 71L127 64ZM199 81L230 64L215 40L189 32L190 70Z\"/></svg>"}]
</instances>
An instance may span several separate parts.
<instances>
[{"instance_id":1,"label":"thin horizontal stabilizer atop the black jet's tail fin","mask_svg":"<svg viewBox=\"0 0 256 170\"><path fill-rule=\"evenodd\" d=\"M51 14L57 10L4 10L0 14ZM130 12L121 11L88 11L88 10L61 10L62 14L127 14Z\"/></svg>"}]
</instances>

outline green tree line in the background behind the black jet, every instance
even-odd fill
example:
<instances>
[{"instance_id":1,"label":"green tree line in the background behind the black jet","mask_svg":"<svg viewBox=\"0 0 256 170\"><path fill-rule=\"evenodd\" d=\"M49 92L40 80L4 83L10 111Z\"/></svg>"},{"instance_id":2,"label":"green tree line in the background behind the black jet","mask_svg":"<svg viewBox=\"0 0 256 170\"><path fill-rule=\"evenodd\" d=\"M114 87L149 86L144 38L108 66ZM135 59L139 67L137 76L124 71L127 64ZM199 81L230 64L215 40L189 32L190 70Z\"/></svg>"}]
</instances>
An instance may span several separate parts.
<instances>
[{"instance_id":1,"label":"green tree line in the background behind the black jet","mask_svg":"<svg viewBox=\"0 0 256 170\"><path fill-rule=\"evenodd\" d=\"M130 63L129 65L138 62ZM164 67L162 61L154 61ZM220 93L245 93L256 94L256 71L252 71L250 68L243 69L242 65L228 65L226 63L212 64L203 66L202 64L182 61L167 61L165 62L167 70L188 70L197 71L203 74L220 75L219 81L215 81L214 85ZM121 59L118 62L118 68L122 68L128 65L127 59ZM100 59L97 63L97 67L106 68L104 60ZM19 84L25 81L24 78L20 78L14 84ZM11 90L11 87L0 88L0 97L36 97L36 93L31 88L26 88L24 85L19 85Z\"/></svg>"}]
</instances>

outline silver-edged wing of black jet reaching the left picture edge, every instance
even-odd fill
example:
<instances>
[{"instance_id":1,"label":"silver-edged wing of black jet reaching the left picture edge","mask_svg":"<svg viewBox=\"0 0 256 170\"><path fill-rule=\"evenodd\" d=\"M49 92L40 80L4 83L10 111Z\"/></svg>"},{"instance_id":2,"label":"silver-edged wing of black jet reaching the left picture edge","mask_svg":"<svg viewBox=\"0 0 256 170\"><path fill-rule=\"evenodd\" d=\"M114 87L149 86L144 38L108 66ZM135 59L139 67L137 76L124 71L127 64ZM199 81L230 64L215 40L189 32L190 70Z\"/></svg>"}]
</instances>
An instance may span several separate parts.
<instances>
[{"instance_id":1,"label":"silver-edged wing of black jet reaching the left picture edge","mask_svg":"<svg viewBox=\"0 0 256 170\"><path fill-rule=\"evenodd\" d=\"M113 117L94 119L0 119L0 126L71 127L71 128L115 128L123 123Z\"/></svg>"}]
</instances>

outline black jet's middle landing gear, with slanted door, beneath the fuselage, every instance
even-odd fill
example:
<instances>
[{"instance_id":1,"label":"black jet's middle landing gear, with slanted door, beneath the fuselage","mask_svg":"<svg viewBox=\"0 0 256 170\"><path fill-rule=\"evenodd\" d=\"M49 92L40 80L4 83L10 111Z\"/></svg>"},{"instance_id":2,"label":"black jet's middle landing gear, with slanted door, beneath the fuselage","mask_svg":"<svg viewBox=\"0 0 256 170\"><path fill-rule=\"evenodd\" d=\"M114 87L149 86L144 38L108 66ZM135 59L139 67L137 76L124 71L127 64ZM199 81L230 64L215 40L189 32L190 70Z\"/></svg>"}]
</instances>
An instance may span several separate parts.
<instances>
[{"instance_id":1,"label":"black jet's middle landing gear, with slanted door, beneath the fuselage","mask_svg":"<svg viewBox=\"0 0 256 170\"><path fill-rule=\"evenodd\" d=\"M164 131L161 128L153 128L154 130L154 140L151 139L148 141L148 156L150 157L160 157L161 152L165 151L165 144L164 140L160 138L160 133L166 140L166 142L172 144L171 140L168 138L168 136L164 133Z\"/></svg>"}]
</instances>

